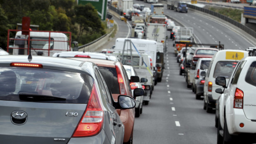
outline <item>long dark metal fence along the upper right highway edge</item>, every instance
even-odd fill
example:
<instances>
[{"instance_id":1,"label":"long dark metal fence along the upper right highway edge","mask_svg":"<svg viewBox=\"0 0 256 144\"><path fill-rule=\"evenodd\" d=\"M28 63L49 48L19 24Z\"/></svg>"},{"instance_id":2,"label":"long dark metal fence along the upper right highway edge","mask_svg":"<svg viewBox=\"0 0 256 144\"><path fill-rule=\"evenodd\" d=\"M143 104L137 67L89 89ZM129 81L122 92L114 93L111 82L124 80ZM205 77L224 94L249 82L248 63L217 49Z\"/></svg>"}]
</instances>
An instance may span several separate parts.
<instances>
[{"instance_id":1,"label":"long dark metal fence along the upper right highway edge","mask_svg":"<svg viewBox=\"0 0 256 144\"><path fill-rule=\"evenodd\" d=\"M229 17L226 17L224 16L223 14L219 14L217 12L213 12L209 9L204 9L204 8L201 8L201 7L196 7L194 5L190 5L190 4L187 4L187 7L191 8L191 9L196 9L196 10L199 10L201 12L205 12L207 14L211 14L215 17L218 17L220 19L223 19L224 21L228 21L230 24L234 25L234 26L237 26L238 28L242 29L243 31L245 31L246 33L249 33L249 35L253 36L254 38L256 38L256 32L254 30L252 30L251 28L247 27L247 26L244 26L243 24L233 20L233 19L230 19Z\"/></svg>"}]
</instances>

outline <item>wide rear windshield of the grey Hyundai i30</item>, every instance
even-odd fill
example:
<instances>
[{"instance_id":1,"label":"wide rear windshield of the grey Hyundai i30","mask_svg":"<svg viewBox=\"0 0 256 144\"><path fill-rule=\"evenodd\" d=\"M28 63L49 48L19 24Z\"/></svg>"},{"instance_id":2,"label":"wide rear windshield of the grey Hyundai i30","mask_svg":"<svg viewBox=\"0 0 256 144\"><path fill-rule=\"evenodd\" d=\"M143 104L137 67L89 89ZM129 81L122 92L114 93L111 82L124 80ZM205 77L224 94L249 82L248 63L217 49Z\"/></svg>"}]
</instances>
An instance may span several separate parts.
<instances>
[{"instance_id":1,"label":"wide rear windshield of the grey Hyundai i30","mask_svg":"<svg viewBox=\"0 0 256 144\"><path fill-rule=\"evenodd\" d=\"M87 104L93 83L92 77L81 73L1 67L0 100Z\"/></svg>"}]
</instances>

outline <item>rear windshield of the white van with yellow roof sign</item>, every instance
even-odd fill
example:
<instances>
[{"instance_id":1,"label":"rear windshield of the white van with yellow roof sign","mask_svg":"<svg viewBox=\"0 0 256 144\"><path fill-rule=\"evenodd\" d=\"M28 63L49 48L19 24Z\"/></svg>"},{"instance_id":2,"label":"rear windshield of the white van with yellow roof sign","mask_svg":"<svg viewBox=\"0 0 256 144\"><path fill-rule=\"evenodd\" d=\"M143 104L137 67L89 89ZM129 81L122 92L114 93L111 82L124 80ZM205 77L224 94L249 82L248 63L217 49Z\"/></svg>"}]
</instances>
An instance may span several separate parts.
<instances>
[{"instance_id":1,"label":"rear windshield of the white van with yellow roof sign","mask_svg":"<svg viewBox=\"0 0 256 144\"><path fill-rule=\"evenodd\" d=\"M235 61L218 61L214 69L213 77L223 76L225 78L230 78L236 65L237 62Z\"/></svg>"}]
</instances>

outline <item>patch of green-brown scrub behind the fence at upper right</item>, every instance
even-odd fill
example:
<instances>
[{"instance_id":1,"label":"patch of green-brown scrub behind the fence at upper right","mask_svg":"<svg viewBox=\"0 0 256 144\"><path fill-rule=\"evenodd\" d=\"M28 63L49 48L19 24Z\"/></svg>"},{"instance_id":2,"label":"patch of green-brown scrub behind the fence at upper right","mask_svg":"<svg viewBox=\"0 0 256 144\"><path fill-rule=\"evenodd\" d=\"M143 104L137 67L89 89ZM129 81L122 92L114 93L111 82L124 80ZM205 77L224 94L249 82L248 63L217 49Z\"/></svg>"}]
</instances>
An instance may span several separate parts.
<instances>
[{"instance_id":1,"label":"patch of green-brown scrub behind the fence at upper right","mask_svg":"<svg viewBox=\"0 0 256 144\"><path fill-rule=\"evenodd\" d=\"M240 22L241 21L241 14L243 10L240 9L232 9L232 8L223 8L223 7L210 7L210 10L214 12L218 12L220 14L223 14L230 19L234 19L235 21Z\"/></svg>"}]
</instances>

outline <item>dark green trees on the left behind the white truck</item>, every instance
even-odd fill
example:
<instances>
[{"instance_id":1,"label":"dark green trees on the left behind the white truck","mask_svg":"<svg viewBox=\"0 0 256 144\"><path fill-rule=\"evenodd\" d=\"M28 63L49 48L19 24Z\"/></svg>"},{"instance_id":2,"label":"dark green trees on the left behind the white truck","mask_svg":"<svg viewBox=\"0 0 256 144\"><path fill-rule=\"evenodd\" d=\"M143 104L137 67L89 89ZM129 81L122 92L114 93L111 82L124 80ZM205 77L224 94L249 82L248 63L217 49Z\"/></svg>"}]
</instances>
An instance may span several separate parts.
<instances>
[{"instance_id":1,"label":"dark green trees on the left behind the white truck","mask_svg":"<svg viewBox=\"0 0 256 144\"><path fill-rule=\"evenodd\" d=\"M71 31L72 40L86 44L106 32L92 4L77 5L76 0L0 0L0 47L7 46L8 29L16 29L22 17L41 31ZM14 37L14 35L12 35Z\"/></svg>"}]
</instances>

